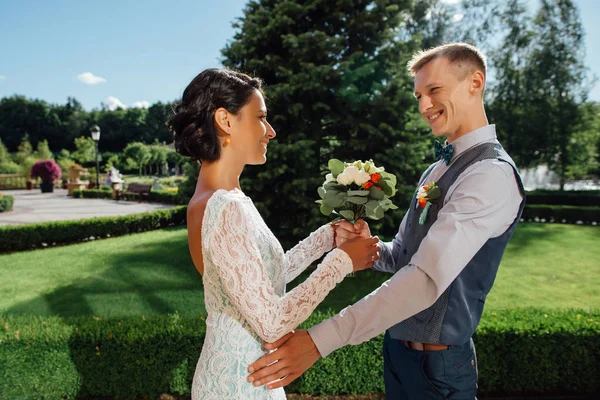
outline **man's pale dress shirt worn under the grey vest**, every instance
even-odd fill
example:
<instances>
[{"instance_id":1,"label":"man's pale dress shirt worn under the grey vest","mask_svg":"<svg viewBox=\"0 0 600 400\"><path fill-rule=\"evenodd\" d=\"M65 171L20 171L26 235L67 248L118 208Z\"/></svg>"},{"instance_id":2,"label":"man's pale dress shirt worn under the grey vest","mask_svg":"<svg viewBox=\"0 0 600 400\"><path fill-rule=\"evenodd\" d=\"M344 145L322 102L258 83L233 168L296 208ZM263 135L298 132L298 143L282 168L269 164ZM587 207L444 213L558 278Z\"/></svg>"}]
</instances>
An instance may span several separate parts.
<instances>
[{"instance_id":1,"label":"man's pale dress shirt worn under the grey vest","mask_svg":"<svg viewBox=\"0 0 600 400\"><path fill-rule=\"evenodd\" d=\"M498 143L494 125L452 142L453 160L482 143ZM448 168L443 160L438 161L427 182L438 181ZM365 342L433 305L485 242L510 227L521 200L509 164L496 159L474 163L448 189L437 220L410 263L396 266L392 255L400 250L406 213L396 238L380 243L381 258L374 266L390 272L403 268L371 294L308 330L321 356L346 344Z\"/></svg>"}]
</instances>

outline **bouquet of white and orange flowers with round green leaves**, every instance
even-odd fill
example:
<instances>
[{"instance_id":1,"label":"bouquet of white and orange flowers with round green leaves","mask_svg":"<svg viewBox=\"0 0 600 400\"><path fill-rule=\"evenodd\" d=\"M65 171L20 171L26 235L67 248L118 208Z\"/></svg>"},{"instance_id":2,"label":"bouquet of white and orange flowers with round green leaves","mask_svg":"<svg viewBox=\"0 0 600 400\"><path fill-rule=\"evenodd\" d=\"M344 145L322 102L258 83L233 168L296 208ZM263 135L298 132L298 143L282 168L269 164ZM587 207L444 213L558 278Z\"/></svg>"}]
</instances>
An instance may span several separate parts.
<instances>
[{"instance_id":1,"label":"bouquet of white and orange flowers with round green leaves","mask_svg":"<svg viewBox=\"0 0 600 400\"><path fill-rule=\"evenodd\" d=\"M381 219L385 211L398 208L390 200L396 194L396 177L373 161L331 159L328 167L331 173L317 190L324 215L336 214L354 223L365 217Z\"/></svg>"}]
</instances>

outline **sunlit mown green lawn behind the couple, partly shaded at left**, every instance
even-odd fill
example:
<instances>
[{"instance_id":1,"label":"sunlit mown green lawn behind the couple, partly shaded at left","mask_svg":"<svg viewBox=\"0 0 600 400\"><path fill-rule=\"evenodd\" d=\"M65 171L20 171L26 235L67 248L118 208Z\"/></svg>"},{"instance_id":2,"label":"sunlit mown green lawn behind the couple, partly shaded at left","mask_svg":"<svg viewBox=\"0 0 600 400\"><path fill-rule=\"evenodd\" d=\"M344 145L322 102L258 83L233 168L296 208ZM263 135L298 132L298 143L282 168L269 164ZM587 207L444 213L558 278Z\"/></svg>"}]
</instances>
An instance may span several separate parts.
<instances>
[{"instance_id":1,"label":"sunlit mown green lawn behind the couple, partly shaded at left","mask_svg":"<svg viewBox=\"0 0 600 400\"><path fill-rule=\"evenodd\" d=\"M600 308L599 239L597 227L521 224L486 309ZM0 313L205 313L202 281L191 263L185 228L0 255L0 276ZM340 310L388 277L365 271L346 278L319 308Z\"/></svg>"}]
</instances>

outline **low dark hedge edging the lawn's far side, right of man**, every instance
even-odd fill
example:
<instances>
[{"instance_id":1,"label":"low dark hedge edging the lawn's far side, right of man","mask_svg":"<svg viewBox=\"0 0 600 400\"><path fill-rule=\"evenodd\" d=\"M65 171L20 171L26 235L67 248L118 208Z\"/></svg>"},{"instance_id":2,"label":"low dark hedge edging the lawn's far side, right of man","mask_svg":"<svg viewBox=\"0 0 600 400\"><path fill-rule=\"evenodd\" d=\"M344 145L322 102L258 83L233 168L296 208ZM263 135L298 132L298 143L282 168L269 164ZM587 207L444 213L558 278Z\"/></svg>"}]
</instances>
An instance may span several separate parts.
<instances>
[{"instance_id":1,"label":"low dark hedge edging the lawn's far side, right of man","mask_svg":"<svg viewBox=\"0 0 600 400\"><path fill-rule=\"evenodd\" d=\"M600 223L600 207L527 205L521 216L525 221Z\"/></svg>"}]
</instances>

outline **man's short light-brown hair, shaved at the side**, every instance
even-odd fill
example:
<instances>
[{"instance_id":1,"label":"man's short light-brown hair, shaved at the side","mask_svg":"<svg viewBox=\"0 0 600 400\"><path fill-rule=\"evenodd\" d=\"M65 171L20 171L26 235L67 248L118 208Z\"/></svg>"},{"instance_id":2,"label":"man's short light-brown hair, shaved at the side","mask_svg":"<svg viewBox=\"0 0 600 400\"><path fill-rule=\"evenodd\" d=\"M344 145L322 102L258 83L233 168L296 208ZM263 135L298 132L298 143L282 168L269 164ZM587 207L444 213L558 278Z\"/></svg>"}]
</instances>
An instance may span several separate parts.
<instances>
[{"instance_id":1,"label":"man's short light-brown hair, shaved at the side","mask_svg":"<svg viewBox=\"0 0 600 400\"><path fill-rule=\"evenodd\" d=\"M487 62L483 53L467 43L449 43L415 53L407 64L408 72L415 76L425 64L439 57L446 57L454 66L458 78L463 80L477 70L487 78Z\"/></svg>"}]
</instances>

